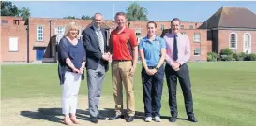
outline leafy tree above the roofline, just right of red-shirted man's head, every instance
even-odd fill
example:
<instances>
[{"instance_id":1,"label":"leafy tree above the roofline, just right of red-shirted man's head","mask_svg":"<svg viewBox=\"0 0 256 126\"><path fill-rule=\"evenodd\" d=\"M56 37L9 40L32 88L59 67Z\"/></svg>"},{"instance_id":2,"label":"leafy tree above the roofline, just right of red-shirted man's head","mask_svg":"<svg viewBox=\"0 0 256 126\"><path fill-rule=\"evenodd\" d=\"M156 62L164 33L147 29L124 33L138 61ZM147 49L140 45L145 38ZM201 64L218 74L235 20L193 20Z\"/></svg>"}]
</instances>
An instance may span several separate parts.
<instances>
[{"instance_id":1,"label":"leafy tree above the roofline, just right of red-shirted man's head","mask_svg":"<svg viewBox=\"0 0 256 126\"><path fill-rule=\"evenodd\" d=\"M128 21L147 21L147 9L136 2L127 8Z\"/></svg>"}]
</instances>

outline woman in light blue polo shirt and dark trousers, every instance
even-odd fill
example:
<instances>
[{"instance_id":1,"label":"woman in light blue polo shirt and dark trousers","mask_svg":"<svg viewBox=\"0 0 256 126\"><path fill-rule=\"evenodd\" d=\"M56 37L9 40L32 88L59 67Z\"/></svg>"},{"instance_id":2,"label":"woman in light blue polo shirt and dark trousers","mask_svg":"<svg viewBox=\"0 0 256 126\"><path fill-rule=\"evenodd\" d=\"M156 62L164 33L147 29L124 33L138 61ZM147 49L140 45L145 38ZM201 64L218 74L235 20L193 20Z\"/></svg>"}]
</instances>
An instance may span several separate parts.
<instances>
[{"instance_id":1,"label":"woman in light blue polo shirt and dark trousers","mask_svg":"<svg viewBox=\"0 0 256 126\"><path fill-rule=\"evenodd\" d=\"M166 45L162 38L156 35L157 23L147 23L147 36L141 39L139 53L143 63L143 102L145 121L154 119L160 122L161 95L164 77L163 62L165 59Z\"/></svg>"}]
</instances>

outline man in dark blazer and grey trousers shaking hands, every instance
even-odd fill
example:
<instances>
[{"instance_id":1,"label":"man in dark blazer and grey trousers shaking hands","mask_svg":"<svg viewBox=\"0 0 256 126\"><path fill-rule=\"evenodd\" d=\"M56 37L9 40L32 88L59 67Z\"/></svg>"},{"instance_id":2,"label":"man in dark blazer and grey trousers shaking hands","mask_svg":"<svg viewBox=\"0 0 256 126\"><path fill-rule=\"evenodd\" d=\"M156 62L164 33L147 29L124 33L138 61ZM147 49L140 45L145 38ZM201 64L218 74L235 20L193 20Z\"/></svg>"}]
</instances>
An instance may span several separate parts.
<instances>
[{"instance_id":1,"label":"man in dark blazer and grey trousers shaking hands","mask_svg":"<svg viewBox=\"0 0 256 126\"><path fill-rule=\"evenodd\" d=\"M105 29L100 25L103 17L96 13L93 25L83 30L83 44L87 53L86 72L88 85L88 99L90 121L98 123L98 119L105 119L98 113L98 103L101 94L102 82L108 70L110 53L107 46L107 36Z\"/></svg>"}]
</instances>

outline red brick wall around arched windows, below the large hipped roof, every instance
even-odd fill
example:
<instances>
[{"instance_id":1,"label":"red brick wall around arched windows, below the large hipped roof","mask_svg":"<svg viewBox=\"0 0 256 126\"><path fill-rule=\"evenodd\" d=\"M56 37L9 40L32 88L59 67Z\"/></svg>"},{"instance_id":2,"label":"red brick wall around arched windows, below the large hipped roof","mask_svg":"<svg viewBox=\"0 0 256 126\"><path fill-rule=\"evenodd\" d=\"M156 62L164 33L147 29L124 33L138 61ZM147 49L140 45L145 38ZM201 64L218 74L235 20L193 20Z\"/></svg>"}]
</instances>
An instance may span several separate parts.
<instances>
[{"instance_id":1,"label":"red brick wall around arched windows, below the large hipped roof","mask_svg":"<svg viewBox=\"0 0 256 126\"><path fill-rule=\"evenodd\" d=\"M251 52L256 53L256 31L233 31L233 30L219 30L219 52L221 49L229 48L229 35L231 33L237 34L237 49L236 52L243 52L244 49L244 34L249 33L251 36Z\"/></svg>"}]
</instances>

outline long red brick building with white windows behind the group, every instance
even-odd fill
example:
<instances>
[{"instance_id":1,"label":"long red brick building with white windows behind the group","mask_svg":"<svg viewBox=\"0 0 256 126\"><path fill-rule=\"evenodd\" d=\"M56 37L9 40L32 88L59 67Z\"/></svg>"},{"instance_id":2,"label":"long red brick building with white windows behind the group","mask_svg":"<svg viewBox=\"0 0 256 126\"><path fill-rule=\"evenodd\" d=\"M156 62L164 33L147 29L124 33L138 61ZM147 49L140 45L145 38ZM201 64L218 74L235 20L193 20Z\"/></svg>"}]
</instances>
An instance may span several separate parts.
<instances>
[{"instance_id":1,"label":"long red brick building with white windows behind the group","mask_svg":"<svg viewBox=\"0 0 256 126\"><path fill-rule=\"evenodd\" d=\"M243 17L245 15L248 17ZM230 16L234 19L227 20ZM255 53L256 23L246 22L245 24L241 19L236 21L237 17L247 19L245 22L256 22L256 15L247 8L241 7L221 7L205 22L182 21L180 31L188 35L191 44L190 60L205 61L207 52L219 52L220 49L229 47L237 52ZM1 20L1 62L29 63L36 61L55 63L56 43L64 34L68 22L77 22L80 26L80 34L92 22L91 20L48 18L29 18L24 22L20 17L1 17ZM233 23L230 24L230 21ZM156 22L157 35L168 32L170 21ZM147 21L128 21L129 27L134 29L138 38L146 35L146 23ZM225 27L227 24L228 26ZM113 21L105 21L103 27L108 29L107 34L109 34L116 24ZM246 42L243 44L243 41ZM248 47L242 48L246 44Z\"/></svg>"}]
</instances>

